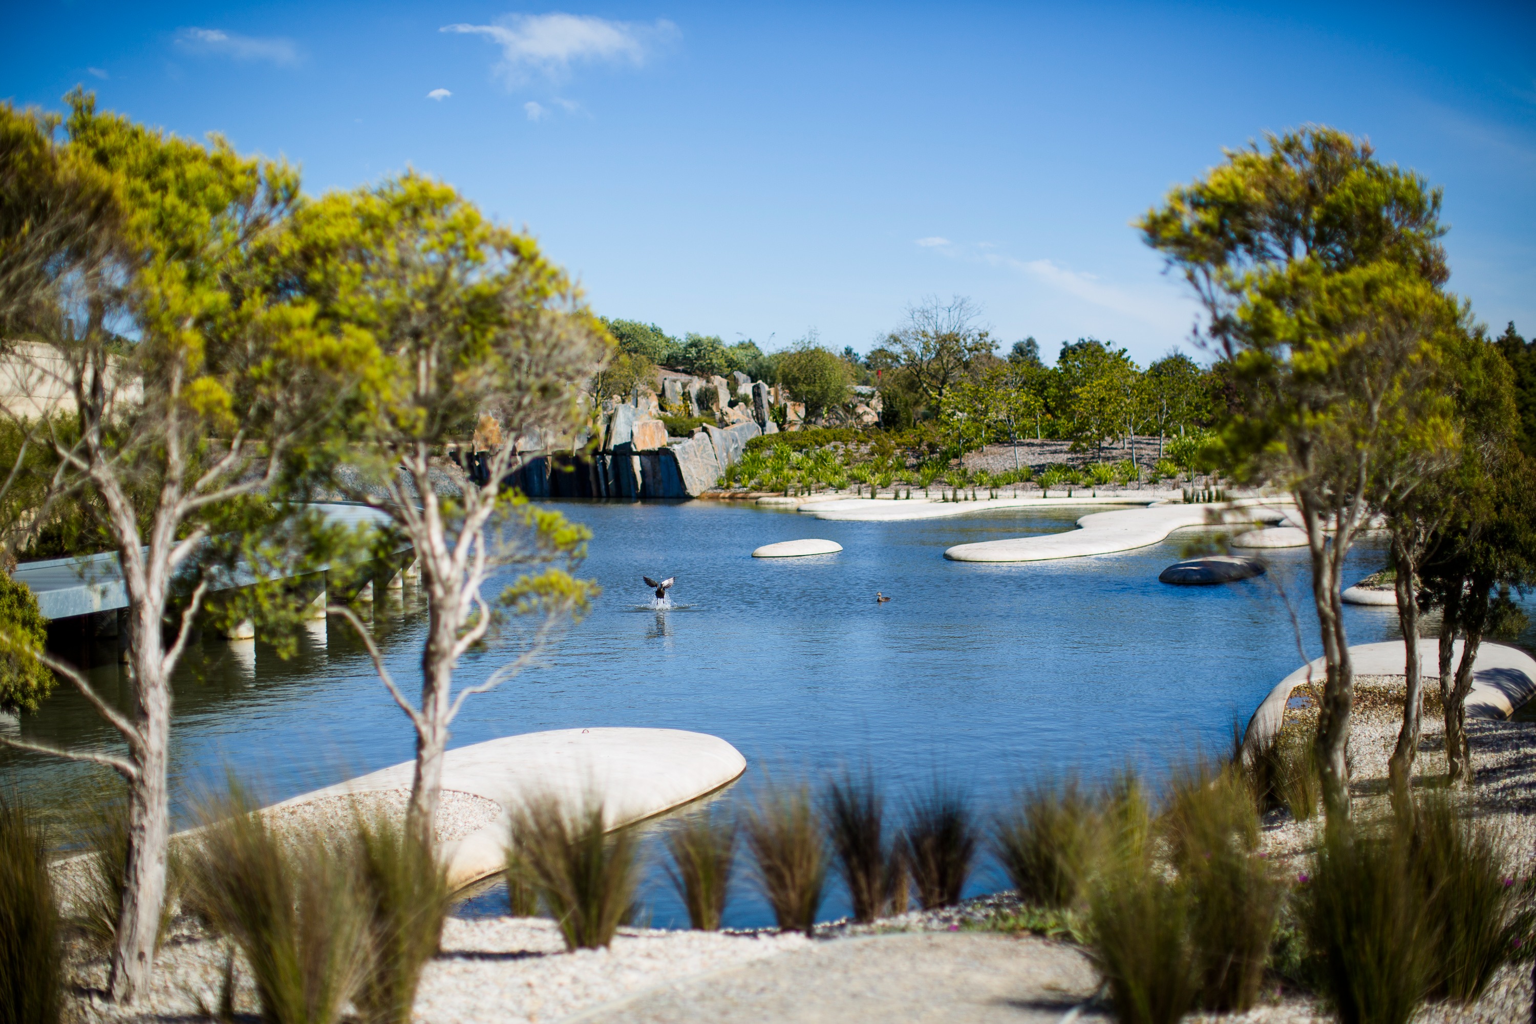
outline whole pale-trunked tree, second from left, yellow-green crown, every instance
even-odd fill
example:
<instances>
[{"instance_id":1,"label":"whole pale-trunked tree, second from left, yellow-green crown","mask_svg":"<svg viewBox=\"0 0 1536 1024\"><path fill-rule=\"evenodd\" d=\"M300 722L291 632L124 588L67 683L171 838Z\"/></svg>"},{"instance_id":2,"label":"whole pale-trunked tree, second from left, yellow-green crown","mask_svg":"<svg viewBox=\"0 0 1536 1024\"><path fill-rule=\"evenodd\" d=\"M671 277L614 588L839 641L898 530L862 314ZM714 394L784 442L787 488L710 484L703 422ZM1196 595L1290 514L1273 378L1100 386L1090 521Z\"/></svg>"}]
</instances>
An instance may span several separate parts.
<instances>
[{"instance_id":1,"label":"whole pale-trunked tree, second from left, yellow-green crown","mask_svg":"<svg viewBox=\"0 0 1536 1024\"><path fill-rule=\"evenodd\" d=\"M406 173L327 195L296 220L304 287L338 333L369 342L362 385L338 396L347 410L338 456L355 473L332 485L386 513L415 550L427 599L419 699L407 697L355 613L336 605L332 614L356 628L410 718L407 823L432 844L442 755L464 702L533 665L596 593L573 576L587 530L528 504L504 479L530 450L576 441L585 422L579 385L608 359L611 341L533 238L485 220L445 184ZM453 481L439 453L484 416L504 442L490 451L482 484ZM498 579L511 571L510 583ZM518 654L455 691L459 659L504 620L521 626Z\"/></svg>"}]
</instances>

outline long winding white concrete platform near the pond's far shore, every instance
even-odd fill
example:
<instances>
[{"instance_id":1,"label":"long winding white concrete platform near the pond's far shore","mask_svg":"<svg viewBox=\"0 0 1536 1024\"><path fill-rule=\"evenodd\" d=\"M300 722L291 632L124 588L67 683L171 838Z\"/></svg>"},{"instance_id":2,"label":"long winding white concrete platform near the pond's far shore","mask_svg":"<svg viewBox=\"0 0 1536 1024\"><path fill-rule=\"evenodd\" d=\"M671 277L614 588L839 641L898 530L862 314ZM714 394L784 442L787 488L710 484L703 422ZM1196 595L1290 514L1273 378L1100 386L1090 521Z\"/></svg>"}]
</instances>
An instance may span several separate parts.
<instances>
[{"instance_id":1,"label":"long winding white concrete platform near the pond's far shore","mask_svg":"<svg viewBox=\"0 0 1536 1024\"><path fill-rule=\"evenodd\" d=\"M1273 508L1273 504L1264 499L1238 499L1210 505L1154 505L1152 508L1094 513L1077 520L1078 530L1049 533L1040 537L958 543L945 551L945 557L955 562L1046 562L1049 559L1078 559L1091 554L1130 551L1157 543L1175 530L1186 527L1221 527L1255 522L1256 519L1273 520L1283 514Z\"/></svg>"}]
</instances>

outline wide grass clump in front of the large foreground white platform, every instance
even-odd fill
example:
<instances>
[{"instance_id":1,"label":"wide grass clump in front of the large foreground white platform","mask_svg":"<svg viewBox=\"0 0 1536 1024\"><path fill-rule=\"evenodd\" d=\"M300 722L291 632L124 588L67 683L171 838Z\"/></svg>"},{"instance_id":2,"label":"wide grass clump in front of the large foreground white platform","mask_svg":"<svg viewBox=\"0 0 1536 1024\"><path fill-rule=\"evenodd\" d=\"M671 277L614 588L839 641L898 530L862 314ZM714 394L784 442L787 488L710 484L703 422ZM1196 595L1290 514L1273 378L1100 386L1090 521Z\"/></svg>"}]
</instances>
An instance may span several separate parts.
<instances>
[{"instance_id":1,"label":"wide grass clump in front of the large foreground white platform","mask_svg":"<svg viewBox=\"0 0 1536 1024\"><path fill-rule=\"evenodd\" d=\"M634 837L604 826L602 804L574 815L558 797L528 801L511 820L516 867L525 872L565 936L567 949L602 949L634 912L639 857Z\"/></svg>"}]
</instances>

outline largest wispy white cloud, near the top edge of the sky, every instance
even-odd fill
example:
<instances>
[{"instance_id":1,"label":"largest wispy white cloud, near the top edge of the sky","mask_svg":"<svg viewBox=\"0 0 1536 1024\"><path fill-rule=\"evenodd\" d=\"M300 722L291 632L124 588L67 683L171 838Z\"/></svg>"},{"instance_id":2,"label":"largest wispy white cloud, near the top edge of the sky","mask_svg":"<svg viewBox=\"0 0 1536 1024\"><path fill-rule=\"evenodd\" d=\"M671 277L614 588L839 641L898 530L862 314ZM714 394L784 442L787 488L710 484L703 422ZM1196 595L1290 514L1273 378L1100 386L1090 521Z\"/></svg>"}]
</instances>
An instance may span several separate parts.
<instances>
[{"instance_id":1,"label":"largest wispy white cloud, near the top edge of the sky","mask_svg":"<svg viewBox=\"0 0 1536 1024\"><path fill-rule=\"evenodd\" d=\"M559 80L579 61L642 66L677 37L667 20L653 25L610 21L584 14L511 14L495 25L444 25L441 32L484 35L501 46L498 71L508 84L528 72Z\"/></svg>"}]
</instances>

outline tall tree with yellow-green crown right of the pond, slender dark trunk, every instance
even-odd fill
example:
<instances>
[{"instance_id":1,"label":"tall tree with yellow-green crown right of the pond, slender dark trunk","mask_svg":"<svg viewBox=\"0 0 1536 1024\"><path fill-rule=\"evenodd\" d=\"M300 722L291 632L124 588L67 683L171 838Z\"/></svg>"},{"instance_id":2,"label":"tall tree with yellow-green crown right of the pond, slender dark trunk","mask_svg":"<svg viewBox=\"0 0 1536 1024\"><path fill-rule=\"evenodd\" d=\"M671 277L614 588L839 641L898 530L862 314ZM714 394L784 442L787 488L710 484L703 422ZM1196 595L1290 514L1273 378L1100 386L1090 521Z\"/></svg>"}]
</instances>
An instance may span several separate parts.
<instances>
[{"instance_id":1,"label":"tall tree with yellow-green crown right of the pond, slender dark trunk","mask_svg":"<svg viewBox=\"0 0 1536 1024\"><path fill-rule=\"evenodd\" d=\"M1138 227L1195 290L1206 333L1241 390L1226 427L1233 464L1286 487L1307 533L1327 682L1316 755L1330 820L1349 817L1353 666L1344 560L1373 514L1375 461L1425 385L1439 287L1439 190L1327 127L1269 137ZM1415 424L1450 444L1441 416ZM1330 536L1332 534L1332 536Z\"/></svg>"}]
</instances>

